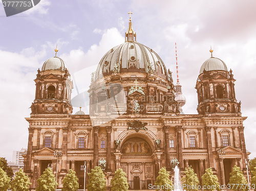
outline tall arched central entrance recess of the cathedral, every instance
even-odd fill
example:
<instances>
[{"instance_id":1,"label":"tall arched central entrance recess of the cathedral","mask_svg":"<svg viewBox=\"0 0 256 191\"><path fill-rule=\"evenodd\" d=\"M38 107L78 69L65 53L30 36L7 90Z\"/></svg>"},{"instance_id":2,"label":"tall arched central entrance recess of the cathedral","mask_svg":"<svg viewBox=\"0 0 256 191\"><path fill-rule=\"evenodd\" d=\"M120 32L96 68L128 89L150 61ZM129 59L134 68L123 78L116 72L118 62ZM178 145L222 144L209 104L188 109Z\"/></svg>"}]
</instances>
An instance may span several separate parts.
<instances>
[{"instance_id":1,"label":"tall arched central entrance recess of the cathedral","mask_svg":"<svg viewBox=\"0 0 256 191\"><path fill-rule=\"evenodd\" d=\"M147 189L148 184L154 183L153 149L148 137L139 133L122 141L120 165L127 174L130 189Z\"/></svg>"}]
</instances>

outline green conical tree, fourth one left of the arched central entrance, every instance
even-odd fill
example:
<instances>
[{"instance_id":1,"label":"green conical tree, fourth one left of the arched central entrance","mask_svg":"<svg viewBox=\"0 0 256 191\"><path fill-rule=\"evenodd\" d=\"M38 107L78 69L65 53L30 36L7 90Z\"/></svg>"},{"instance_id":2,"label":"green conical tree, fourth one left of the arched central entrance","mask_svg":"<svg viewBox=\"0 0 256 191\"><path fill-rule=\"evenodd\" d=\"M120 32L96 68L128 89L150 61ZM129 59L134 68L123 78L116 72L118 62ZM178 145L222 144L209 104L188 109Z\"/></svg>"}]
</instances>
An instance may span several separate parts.
<instances>
[{"instance_id":1,"label":"green conical tree, fourth one left of the arched central entrance","mask_svg":"<svg viewBox=\"0 0 256 191\"><path fill-rule=\"evenodd\" d=\"M52 169L49 167L45 170L44 173L36 180L37 187L36 191L54 191L56 180L54 174L52 173Z\"/></svg>"}]
</instances>

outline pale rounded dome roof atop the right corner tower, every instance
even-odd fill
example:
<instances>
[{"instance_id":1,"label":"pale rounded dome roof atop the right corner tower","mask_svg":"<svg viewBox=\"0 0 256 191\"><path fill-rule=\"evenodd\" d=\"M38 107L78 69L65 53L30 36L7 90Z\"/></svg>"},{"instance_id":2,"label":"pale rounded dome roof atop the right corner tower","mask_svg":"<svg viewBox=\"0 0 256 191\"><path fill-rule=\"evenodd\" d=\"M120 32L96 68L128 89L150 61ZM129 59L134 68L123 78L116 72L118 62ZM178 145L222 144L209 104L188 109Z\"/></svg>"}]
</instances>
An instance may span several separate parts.
<instances>
[{"instance_id":1,"label":"pale rounded dome roof atop the right corner tower","mask_svg":"<svg viewBox=\"0 0 256 191\"><path fill-rule=\"evenodd\" d=\"M227 66L226 66L226 64L221 59L215 58L215 57L210 57L201 66L200 74L203 73L204 69L206 71L211 71L211 70L224 70L224 71L227 71Z\"/></svg>"}]
</instances>

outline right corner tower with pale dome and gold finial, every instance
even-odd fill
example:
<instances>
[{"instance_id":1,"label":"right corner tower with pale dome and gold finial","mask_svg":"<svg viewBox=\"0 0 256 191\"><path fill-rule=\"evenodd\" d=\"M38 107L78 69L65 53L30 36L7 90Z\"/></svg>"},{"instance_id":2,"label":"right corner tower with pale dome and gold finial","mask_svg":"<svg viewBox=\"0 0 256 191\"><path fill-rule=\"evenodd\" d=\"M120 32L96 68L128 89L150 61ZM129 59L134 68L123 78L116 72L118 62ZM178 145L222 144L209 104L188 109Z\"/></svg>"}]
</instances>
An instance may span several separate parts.
<instances>
[{"instance_id":1,"label":"right corner tower with pale dome and gold finial","mask_svg":"<svg viewBox=\"0 0 256 191\"><path fill-rule=\"evenodd\" d=\"M207 59L200 69L196 89L198 93L198 113L240 113L241 102L237 103L234 91L232 70L227 70L226 64L219 58Z\"/></svg>"}]
</instances>

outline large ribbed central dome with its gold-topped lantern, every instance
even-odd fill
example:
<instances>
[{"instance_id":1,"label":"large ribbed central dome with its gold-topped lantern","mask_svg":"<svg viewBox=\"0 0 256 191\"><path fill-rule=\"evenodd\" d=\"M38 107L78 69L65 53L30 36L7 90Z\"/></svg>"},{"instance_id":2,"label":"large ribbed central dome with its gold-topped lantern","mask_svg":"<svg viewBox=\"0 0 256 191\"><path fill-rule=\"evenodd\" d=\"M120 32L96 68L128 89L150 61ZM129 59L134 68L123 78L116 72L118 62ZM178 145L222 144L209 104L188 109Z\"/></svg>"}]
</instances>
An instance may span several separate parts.
<instances>
[{"instance_id":1,"label":"large ribbed central dome with its gold-topped lantern","mask_svg":"<svg viewBox=\"0 0 256 191\"><path fill-rule=\"evenodd\" d=\"M125 42L113 47L100 60L95 78L100 79L112 73L150 73L163 79L168 73L162 59L149 47L136 42L132 22L125 33Z\"/></svg>"}]
</instances>

